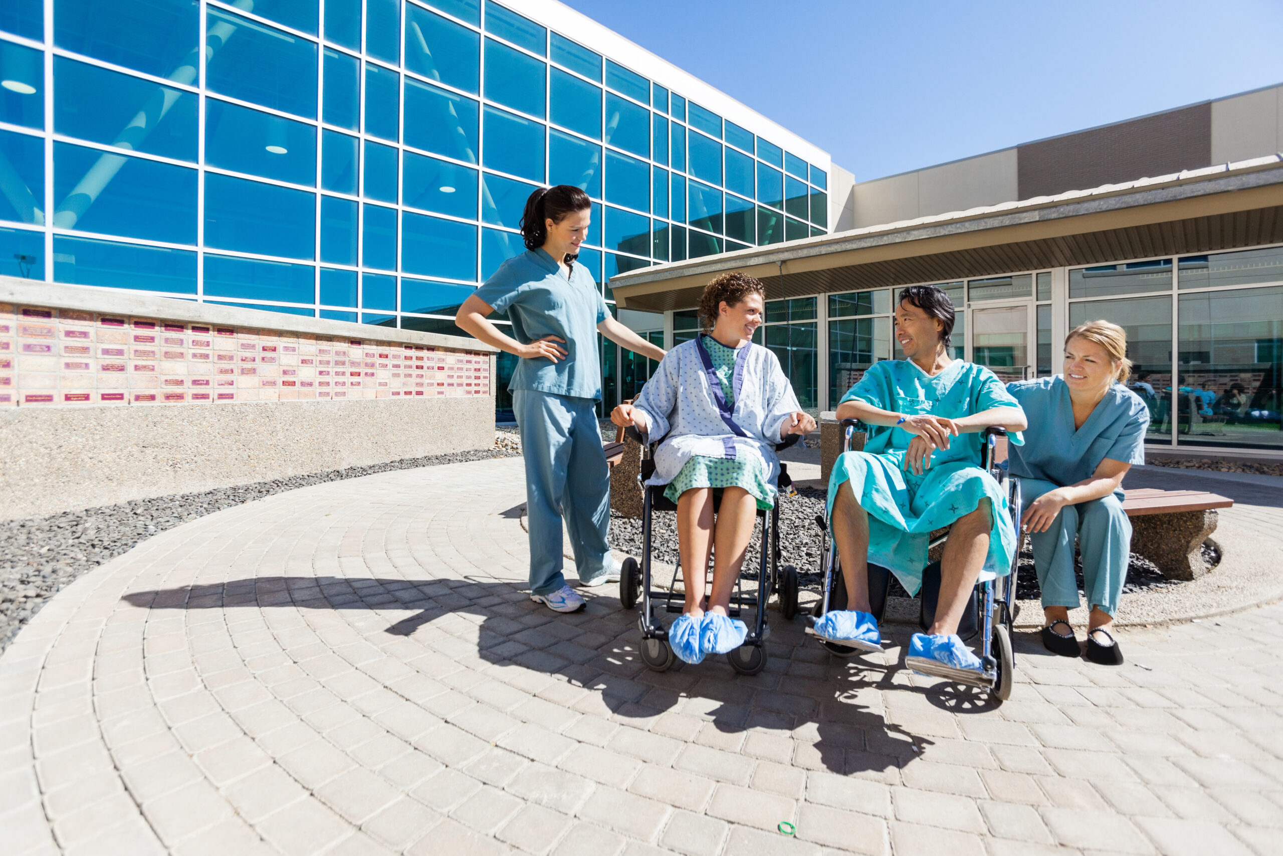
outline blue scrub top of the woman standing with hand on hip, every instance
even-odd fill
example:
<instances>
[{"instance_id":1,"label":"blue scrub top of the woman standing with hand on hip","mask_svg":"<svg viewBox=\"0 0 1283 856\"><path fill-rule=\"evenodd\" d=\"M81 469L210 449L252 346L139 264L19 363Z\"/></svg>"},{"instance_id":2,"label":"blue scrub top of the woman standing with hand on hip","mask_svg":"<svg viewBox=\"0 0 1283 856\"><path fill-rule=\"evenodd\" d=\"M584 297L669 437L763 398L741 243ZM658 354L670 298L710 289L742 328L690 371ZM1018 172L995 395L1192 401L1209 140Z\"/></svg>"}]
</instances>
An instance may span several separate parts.
<instances>
[{"instance_id":1,"label":"blue scrub top of the woman standing with hand on hip","mask_svg":"<svg viewBox=\"0 0 1283 856\"><path fill-rule=\"evenodd\" d=\"M606 302L582 264L567 280L543 249L514 255L476 290L476 295L507 311L512 335L523 345L547 335L566 340L565 359L518 359L508 389L532 389L572 398L602 399L602 367L597 325L606 321Z\"/></svg>"}]
</instances>

